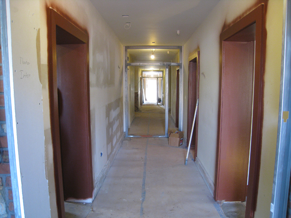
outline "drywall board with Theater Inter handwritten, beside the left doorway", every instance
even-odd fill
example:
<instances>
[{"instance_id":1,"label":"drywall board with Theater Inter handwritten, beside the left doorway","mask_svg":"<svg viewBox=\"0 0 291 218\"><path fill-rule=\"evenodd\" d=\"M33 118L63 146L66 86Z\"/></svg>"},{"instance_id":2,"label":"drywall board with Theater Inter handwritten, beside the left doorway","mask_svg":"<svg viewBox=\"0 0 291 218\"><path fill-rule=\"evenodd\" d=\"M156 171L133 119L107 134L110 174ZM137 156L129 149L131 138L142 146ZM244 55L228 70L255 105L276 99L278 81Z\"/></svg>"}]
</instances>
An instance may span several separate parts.
<instances>
[{"instance_id":1,"label":"drywall board with Theater Inter handwritten, beside the left doorway","mask_svg":"<svg viewBox=\"0 0 291 218\"><path fill-rule=\"evenodd\" d=\"M8 6L7 6L8 7ZM43 102L39 76L40 2L10 1L15 148L25 217L51 217L44 147ZM33 167L32 167L33 166ZM24 213L23 213L24 212Z\"/></svg>"}]
</instances>

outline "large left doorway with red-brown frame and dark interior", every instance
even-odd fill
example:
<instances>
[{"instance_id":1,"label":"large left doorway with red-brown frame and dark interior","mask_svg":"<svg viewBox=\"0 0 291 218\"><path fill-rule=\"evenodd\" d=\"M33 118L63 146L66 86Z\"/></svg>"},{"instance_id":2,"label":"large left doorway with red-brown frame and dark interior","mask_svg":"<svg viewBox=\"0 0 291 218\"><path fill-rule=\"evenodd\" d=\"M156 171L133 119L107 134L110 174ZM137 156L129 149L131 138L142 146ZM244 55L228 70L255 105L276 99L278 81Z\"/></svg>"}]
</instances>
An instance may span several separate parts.
<instances>
[{"instance_id":1,"label":"large left doorway with red-brown frame and dark interior","mask_svg":"<svg viewBox=\"0 0 291 218\"><path fill-rule=\"evenodd\" d=\"M89 38L50 9L49 94L56 201L93 198L89 104Z\"/></svg>"}]
</instances>

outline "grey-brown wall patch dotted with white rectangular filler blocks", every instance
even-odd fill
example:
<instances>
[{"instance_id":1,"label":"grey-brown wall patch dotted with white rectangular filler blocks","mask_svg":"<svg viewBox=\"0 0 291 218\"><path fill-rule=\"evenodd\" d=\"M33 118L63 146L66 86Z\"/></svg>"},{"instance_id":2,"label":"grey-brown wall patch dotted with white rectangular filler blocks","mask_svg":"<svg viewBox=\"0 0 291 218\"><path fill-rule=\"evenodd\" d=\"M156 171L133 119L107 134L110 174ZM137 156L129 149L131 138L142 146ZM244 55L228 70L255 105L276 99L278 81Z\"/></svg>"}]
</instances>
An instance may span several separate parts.
<instances>
[{"instance_id":1,"label":"grey-brown wall patch dotted with white rectangular filler blocks","mask_svg":"<svg viewBox=\"0 0 291 218\"><path fill-rule=\"evenodd\" d=\"M114 150L116 144L120 141L123 130L123 113L122 98L116 99L114 102L106 105L106 144L107 144L107 159Z\"/></svg>"}]
</instances>

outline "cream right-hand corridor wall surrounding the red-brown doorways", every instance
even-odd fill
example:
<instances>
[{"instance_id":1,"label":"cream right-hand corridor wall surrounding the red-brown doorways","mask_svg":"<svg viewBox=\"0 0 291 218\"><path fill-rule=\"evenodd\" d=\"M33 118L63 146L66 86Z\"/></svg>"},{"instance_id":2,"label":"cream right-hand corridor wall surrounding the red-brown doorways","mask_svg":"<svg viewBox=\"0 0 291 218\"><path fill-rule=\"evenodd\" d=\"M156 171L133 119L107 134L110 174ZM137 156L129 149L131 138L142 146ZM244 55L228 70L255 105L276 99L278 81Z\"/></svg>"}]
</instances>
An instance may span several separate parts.
<instances>
[{"instance_id":1,"label":"cream right-hand corridor wall surrounding the red-brown doorways","mask_svg":"<svg viewBox=\"0 0 291 218\"><path fill-rule=\"evenodd\" d=\"M184 45L183 114L187 114L188 57L200 50L198 158L210 179L215 178L219 93L219 36L224 24L247 14L255 0L221 0ZM269 0L266 13L266 65L262 156L256 218L270 216L278 125L283 1ZM187 129L187 116L183 116Z\"/></svg>"}]
</instances>

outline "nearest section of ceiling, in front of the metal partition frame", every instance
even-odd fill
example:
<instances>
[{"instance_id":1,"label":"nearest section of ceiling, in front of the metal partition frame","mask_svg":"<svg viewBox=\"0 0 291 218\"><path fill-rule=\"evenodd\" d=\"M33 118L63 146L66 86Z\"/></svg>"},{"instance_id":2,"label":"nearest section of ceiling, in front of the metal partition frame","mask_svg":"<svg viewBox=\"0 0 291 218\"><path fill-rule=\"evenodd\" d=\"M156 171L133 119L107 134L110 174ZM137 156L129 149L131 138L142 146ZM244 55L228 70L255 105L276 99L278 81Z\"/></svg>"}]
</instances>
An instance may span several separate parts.
<instances>
[{"instance_id":1,"label":"nearest section of ceiling, in front of the metal partition frame","mask_svg":"<svg viewBox=\"0 0 291 218\"><path fill-rule=\"evenodd\" d=\"M123 46L183 46L218 1L91 0Z\"/></svg>"}]
</instances>

